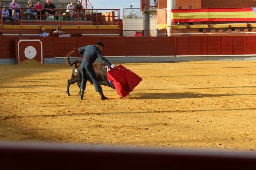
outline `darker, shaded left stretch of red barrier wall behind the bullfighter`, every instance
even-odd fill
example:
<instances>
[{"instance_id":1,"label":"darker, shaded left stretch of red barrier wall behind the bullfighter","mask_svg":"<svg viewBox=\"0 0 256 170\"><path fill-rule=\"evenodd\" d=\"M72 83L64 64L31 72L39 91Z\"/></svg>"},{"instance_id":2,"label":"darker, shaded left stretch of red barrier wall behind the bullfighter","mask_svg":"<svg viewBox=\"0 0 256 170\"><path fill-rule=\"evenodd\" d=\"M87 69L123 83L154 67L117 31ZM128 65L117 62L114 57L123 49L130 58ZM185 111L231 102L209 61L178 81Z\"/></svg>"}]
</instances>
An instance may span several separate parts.
<instances>
[{"instance_id":1,"label":"darker, shaded left stretch of red barrier wall behind the bullfighter","mask_svg":"<svg viewBox=\"0 0 256 170\"><path fill-rule=\"evenodd\" d=\"M174 37L30 37L43 39L44 58L63 57L74 48L88 44L104 42L104 56L150 56L174 55ZM3 36L0 39L0 59L15 59L15 39L19 37ZM25 38L24 38L25 39ZM154 47L152 47L154 45ZM167 48L167 46L169 46ZM72 56L80 56L76 50Z\"/></svg>"}]
</instances>

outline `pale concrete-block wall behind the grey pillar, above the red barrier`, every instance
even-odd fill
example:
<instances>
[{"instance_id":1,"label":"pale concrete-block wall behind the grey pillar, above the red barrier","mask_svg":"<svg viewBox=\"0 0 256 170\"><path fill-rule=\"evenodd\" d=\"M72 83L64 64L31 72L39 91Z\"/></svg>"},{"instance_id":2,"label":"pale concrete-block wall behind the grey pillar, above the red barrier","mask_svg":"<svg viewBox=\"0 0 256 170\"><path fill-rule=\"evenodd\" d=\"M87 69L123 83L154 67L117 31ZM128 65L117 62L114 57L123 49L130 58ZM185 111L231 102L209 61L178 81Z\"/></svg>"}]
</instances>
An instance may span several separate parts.
<instances>
[{"instance_id":1,"label":"pale concrete-block wall behind the grey pillar, above the red barrier","mask_svg":"<svg viewBox=\"0 0 256 170\"><path fill-rule=\"evenodd\" d=\"M157 19L150 18L150 29L157 28ZM143 30L143 18L123 18L123 30ZM133 36L135 31L123 31L123 36ZM157 35L157 31L150 32L152 36Z\"/></svg>"}]
</instances>

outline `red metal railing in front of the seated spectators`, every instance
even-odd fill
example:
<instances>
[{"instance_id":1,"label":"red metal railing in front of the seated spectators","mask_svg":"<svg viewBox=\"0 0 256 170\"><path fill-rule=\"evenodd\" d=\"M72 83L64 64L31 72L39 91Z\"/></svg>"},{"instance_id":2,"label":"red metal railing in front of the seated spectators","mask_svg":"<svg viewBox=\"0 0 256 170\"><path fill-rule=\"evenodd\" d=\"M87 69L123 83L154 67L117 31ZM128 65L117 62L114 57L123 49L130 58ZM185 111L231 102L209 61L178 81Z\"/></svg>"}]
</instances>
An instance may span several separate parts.
<instances>
[{"instance_id":1,"label":"red metal railing in front of the seated spectators","mask_svg":"<svg viewBox=\"0 0 256 170\"><path fill-rule=\"evenodd\" d=\"M55 11L58 12L58 15L51 15L51 17L55 18L53 19L54 21L47 21L46 20L46 15L44 14L44 10L47 9L39 9L40 12L38 15L31 15L27 14L26 10L31 9L31 8L19 8L16 10L16 14L19 16L19 20L15 21L15 23L18 23L21 27L23 25L40 25L42 27L43 25L73 25L80 27L81 25L88 25L90 23L91 25L96 25L97 27L99 25L107 25L107 24L113 24L113 25L118 25L120 26L119 18L120 15L120 9L82 9L84 10L85 16L87 21L81 21L80 20L80 12L77 12L77 21L72 21L70 19L66 20L67 18L70 18L71 15L67 15L65 8L55 8ZM6 7L6 10L9 10L9 7ZM100 12L99 12L100 11ZM2 14L2 8L0 8L0 25L3 27L3 24L14 24L14 21L11 21L10 19L7 18L6 21L3 21L3 14ZM37 16L40 19L39 20L27 20L28 15L30 17ZM9 17L12 17L12 14L8 15ZM74 15L76 17L76 15ZM65 20L62 20L65 19Z\"/></svg>"}]
</instances>

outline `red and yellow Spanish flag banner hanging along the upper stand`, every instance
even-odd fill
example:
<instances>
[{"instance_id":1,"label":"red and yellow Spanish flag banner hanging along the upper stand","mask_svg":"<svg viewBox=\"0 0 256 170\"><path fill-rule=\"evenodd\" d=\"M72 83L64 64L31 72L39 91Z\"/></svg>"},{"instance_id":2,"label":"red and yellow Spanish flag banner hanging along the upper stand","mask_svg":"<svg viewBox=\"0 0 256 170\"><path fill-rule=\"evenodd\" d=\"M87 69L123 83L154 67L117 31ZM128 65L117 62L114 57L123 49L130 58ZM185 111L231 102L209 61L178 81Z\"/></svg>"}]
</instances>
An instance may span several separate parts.
<instances>
[{"instance_id":1,"label":"red and yellow Spanish flag banner hanging along the upper stand","mask_svg":"<svg viewBox=\"0 0 256 170\"><path fill-rule=\"evenodd\" d=\"M172 22L256 21L256 8L172 9Z\"/></svg>"}]
</instances>

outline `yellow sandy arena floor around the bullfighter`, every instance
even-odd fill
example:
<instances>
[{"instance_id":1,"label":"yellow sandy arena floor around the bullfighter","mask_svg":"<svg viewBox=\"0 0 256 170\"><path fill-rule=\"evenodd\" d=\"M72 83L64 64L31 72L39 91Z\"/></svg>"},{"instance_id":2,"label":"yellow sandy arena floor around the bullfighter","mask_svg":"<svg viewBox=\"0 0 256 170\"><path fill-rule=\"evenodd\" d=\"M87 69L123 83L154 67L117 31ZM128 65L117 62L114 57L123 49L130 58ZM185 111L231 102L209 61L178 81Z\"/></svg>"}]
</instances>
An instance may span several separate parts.
<instances>
[{"instance_id":1,"label":"yellow sandy arena floor around the bullfighter","mask_svg":"<svg viewBox=\"0 0 256 170\"><path fill-rule=\"evenodd\" d=\"M81 101L68 65L0 65L0 141L256 152L256 62L123 66L143 78L130 96L88 84Z\"/></svg>"}]
</instances>

